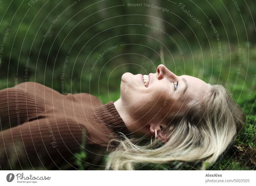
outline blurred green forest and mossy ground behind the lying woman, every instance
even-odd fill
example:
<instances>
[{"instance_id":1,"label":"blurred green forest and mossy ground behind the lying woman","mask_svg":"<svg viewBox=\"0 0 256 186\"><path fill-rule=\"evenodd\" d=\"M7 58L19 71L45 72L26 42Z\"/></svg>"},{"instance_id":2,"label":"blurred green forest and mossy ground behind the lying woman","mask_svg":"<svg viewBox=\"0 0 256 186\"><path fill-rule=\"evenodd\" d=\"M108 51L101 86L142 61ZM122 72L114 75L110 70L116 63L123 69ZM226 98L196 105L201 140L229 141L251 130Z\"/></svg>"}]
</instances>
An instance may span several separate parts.
<instances>
[{"instance_id":1,"label":"blurred green forest and mossy ground behind the lying woman","mask_svg":"<svg viewBox=\"0 0 256 186\"><path fill-rule=\"evenodd\" d=\"M254 0L0 0L0 88L18 78L107 103L119 98L122 74L164 64L222 84L248 117L235 149L211 169L255 169L255 18Z\"/></svg>"}]
</instances>

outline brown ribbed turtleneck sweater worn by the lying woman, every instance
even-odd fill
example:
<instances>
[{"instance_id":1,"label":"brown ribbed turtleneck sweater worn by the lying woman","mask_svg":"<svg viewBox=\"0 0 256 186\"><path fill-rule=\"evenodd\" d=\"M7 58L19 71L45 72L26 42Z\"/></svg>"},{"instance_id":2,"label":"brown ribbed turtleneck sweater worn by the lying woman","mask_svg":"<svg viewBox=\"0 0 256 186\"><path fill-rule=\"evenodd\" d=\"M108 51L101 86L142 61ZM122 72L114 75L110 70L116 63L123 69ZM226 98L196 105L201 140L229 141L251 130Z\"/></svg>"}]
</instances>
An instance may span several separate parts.
<instances>
[{"instance_id":1,"label":"brown ribbed turtleneck sweater worn by the lying woman","mask_svg":"<svg viewBox=\"0 0 256 186\"><path fill-rule=\"evenodd\" d=\"M118 132L130 135L114 102L61 95L35 82L0 90L0 122L0 169L76 169L81 150L89 165L97 165Z\"/></svg>"}]
</instances>

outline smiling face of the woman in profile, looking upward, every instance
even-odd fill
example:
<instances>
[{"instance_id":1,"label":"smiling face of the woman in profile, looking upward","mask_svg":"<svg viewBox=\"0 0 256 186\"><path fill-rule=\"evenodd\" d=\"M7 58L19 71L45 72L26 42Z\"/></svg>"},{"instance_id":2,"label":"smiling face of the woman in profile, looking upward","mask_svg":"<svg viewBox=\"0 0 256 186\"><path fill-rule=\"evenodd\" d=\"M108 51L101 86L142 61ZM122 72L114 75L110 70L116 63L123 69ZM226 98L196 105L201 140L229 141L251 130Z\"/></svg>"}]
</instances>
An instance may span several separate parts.
<instances>
[{"instance_id":1,"label":"smiling face of the woman in profile, looking upward","mask_svg":"<svg viewBox=\"0 0 256 186\"><path fill-rule=\"evenodd\" d=\"M125 73L121 82L121 100L136 120L165 122L167 116L186 112L188 102L203 98L209 84L188 75L177 76L164 65L148 76Z\"/></svg>"}]
</instances>

